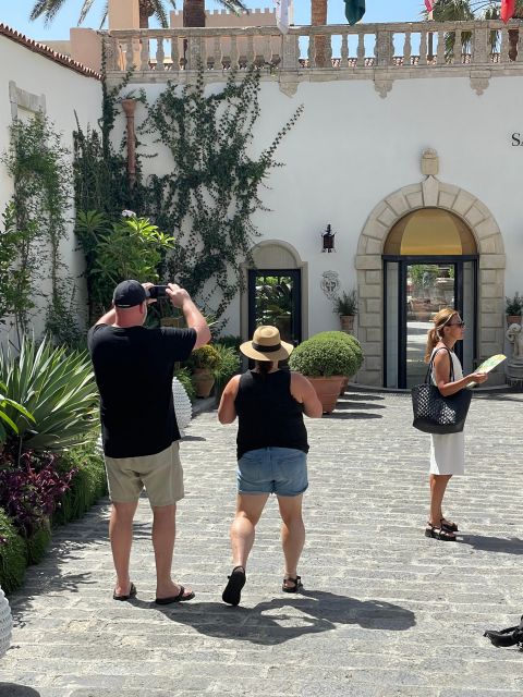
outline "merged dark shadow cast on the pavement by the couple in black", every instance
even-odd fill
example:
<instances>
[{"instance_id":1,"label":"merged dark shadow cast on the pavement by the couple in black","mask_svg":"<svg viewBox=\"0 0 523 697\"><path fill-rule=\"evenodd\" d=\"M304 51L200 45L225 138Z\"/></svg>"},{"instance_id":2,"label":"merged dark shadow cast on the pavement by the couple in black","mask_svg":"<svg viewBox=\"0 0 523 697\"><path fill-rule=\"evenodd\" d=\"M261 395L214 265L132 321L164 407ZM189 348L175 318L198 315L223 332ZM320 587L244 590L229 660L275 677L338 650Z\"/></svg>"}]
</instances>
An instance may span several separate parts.
<instances>
[{"instance_id":1,"label":"merged dark shadow cast on the pavement by the couple in black","mask_svg":"<svg viewBox=\"0 0 523 697\"><path fill-rule=\"evenodd\" d=\"M304 591L292 598L275 598L252 609L232 608L221 602L173 603L158 607L133 599L144 610L157 610L169 620L192 626L199 634L239 639L260 645L277 645L304 634L319 634L339 625L365 629L404 632L415 625L410 610L380 600L355 600L332 592Z\"/></svg>"}]
</instances>

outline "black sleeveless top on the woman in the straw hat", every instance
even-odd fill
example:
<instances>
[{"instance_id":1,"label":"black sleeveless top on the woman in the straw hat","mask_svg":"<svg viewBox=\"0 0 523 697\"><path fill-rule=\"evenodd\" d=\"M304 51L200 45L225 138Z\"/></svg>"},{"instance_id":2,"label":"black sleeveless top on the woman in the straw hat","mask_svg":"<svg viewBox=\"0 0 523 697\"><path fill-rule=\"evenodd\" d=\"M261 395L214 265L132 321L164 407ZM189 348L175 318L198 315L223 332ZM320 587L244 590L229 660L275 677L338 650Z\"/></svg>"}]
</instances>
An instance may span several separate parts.
<instances>
[{"instance_id":1,"label":"black sleeveless top on the woman in the straw hat","mask_svg":"<svg viewBox=\"0 0 523 697\"><path fill-rule=\"evenodd\" d=\"M308 452L303 404L291 394L291 374L265 376L247 370L240 378L234 406L238 414L238 458L259 448L293 448Z\"/></svg>"}]
</instances>

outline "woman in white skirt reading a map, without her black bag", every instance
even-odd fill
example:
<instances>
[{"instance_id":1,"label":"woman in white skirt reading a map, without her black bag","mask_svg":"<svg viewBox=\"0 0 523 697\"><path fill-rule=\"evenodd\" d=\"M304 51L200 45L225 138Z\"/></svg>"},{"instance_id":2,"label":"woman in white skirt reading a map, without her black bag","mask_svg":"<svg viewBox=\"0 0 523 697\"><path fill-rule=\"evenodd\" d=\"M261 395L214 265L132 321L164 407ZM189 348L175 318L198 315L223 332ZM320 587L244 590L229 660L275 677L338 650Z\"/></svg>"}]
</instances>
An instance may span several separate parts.
<instances>
[{"instance_id":1,"label":"woman in white skirt reading a map, without her black bag","mask_svg":"<svg viewBox=\"0 0 523 697\"><path fill-rule=\"evenodd\" d=\"M446 307L434 319L434 329L427 338L425 362L433 362L431 378L442 396L455 394L471 382L482 383L487 379L484 372L472 372L463 377L461 363L454 353L454 345L462 341L465 322L455 309ZM451 364L452 360L452 364ZM445 491L452 475L465 472L465 435L430 435L430 512L426 537L438 540L455 540L458 525L445 517L441 504Z\"/></svg>"}]
</instances>

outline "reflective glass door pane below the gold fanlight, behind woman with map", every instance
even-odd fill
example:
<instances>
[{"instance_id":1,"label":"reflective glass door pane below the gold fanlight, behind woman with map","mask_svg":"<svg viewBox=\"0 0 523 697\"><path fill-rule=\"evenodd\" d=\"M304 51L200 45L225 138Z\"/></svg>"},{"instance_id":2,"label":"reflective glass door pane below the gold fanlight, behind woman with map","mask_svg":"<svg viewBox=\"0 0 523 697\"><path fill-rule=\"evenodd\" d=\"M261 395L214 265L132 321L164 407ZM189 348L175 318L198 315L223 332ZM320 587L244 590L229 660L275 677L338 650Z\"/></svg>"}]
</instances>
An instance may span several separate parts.
<instances>
[{"instance_id":1,"label":"reflective glass door pane below the gold fanlight, behind woman with map","mask_svg":"<svg viewBox=\"0 0 523 697\"><path fill-rule=\"evenodd\" d=\"M431 319L443 307L454 307L455 264L408 264L406 297L406 388L423 382L427 332Z\"/></svg>"}]
</instances>

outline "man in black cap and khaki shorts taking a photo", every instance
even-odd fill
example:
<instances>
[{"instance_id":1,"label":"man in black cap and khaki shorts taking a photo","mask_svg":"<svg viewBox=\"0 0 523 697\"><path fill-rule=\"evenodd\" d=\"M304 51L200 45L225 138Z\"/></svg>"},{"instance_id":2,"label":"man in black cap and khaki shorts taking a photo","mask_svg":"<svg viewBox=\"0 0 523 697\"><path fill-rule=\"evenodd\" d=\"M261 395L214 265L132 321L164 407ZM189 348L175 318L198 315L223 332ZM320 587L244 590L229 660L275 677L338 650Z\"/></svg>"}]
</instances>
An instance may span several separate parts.
<instances>
[{"instance_id":1,"label":"man in black cap and khaki shorts taking a photo","mask_svg":"<svg viewBox=\"0 0 523 697\"><path fill-rule=\"evenodd\" d=\"M112 500L109 537L117 572L114 600L136 595L129 563L133 517L145 487L153 508L156 602L194 598L173 583L171 564L177 501L183 498L179 457L180 431L172 400L174 364L206 344L210 331L188 293L169 283L166 293L181 308L187 329L143 327L153 283L123 281L113 307L89 330L87 343L100 392L100 417L109 493Z\"/></svg>"}]
</instances>

